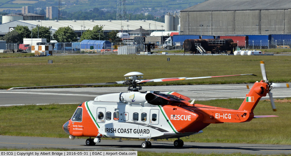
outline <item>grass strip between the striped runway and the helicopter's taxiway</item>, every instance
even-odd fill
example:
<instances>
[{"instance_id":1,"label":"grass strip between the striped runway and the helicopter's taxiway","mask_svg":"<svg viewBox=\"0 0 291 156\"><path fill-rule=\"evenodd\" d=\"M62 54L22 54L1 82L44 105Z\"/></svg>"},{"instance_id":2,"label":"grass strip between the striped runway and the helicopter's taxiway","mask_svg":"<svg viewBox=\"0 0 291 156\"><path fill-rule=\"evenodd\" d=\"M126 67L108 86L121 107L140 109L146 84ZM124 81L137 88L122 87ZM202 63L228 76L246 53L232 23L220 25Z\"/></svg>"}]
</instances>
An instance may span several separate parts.
<instances>
[{"instance_id":1,"label":"grass strip between the striped runway and the helicopter's taxiway","mask_svg":"<svg viewBox=\"0 0 291 156\"><path fill-rule=\"evenodd\" d=\"M217 107L238 109L242 99L197 101ZM191 142L291 144L290 99L276 102L277 112L272 112L269 101L260 101L255 115L278 115L258 118L247 123L211 124L202 134L190 136ZM67 138L63 124L71 118L79 104L51 104L0 107L0 135L42 136ZM15 122L13 122L15 121ZM169 139L174 141L175 139Z\"/></svg>"}]
</instances>

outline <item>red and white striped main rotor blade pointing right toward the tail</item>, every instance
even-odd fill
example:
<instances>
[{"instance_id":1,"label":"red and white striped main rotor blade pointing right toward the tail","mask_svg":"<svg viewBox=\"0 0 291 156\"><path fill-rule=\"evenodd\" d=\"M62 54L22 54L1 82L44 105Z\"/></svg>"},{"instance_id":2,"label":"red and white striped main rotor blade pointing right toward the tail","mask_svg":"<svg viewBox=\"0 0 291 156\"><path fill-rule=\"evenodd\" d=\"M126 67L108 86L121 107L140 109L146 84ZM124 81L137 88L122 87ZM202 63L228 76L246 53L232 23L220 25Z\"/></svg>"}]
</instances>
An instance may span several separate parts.
<instances>
[{"instance_id":1,"label":"red and white striped main rotor blade pointing right toward the tail","mask_svg":"<svg viewBox=\"0 0 291 156\"><path fill-rule=\"evenodd\" d=\"M180 77L180 78L156 78L156 79L149 79L149 80L136 80L136 83L145 83L145 82L165 82L165 81L178 81L178 80L191 80L191 79L199 79L199 78L217 78L217 77L227 77L227 76L241 76L241 75L253 75L254 74L239 74L239 75L222 75L222 76L202 76L202 77Z\"/></svg>"}]
</instances>

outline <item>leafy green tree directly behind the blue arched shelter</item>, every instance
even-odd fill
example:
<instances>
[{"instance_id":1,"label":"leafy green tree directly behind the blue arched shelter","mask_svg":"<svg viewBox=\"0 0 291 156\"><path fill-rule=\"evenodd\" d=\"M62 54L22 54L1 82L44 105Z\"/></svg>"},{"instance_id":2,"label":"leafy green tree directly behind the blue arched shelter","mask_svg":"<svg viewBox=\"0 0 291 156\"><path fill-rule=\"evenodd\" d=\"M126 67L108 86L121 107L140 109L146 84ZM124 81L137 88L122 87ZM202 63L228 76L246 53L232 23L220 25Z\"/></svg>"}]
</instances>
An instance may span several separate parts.
<instances>
[{"instance_id":1,"label":"leafy green tree directly behind the blue arched shelter","mask_svg":"<svg viewBox=\"0 0 291 156\"><path fill-rule=\"evenodd\" d=\"M86 30L81 38L80 41L83 40L104 40L105 36L103 34L103 26L102 25L95 25L93 30Z\"/></svg>"}]
</instances>

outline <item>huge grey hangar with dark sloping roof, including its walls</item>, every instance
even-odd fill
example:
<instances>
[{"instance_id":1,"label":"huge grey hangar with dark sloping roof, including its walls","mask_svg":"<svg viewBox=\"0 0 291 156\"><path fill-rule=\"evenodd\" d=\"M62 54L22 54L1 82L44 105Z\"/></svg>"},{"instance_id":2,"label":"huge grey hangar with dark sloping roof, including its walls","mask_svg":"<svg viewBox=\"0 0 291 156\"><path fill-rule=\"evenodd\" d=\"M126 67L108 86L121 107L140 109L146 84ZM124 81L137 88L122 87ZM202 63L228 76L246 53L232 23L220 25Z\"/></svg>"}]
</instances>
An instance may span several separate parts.
<instances>
[{"instance_id":1,"label":"huge grey hangar with dark sloping roof, including its walls","mask_svg":"<svg viewBox=\"0 0 291 156\"><path fill-rule=\"evenodd\" d=\"M181 10L181 34L291 33L290 0L208 0Z\"/></svg>"}]
</instances>

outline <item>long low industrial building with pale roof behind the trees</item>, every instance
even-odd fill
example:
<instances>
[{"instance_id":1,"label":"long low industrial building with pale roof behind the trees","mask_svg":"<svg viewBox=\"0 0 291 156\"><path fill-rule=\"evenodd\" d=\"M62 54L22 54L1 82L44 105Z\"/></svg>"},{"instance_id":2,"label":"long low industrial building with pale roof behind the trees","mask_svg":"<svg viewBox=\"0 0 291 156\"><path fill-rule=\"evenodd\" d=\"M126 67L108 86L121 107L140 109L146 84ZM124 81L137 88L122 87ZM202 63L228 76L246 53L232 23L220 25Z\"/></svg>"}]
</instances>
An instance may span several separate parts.
<instances>
[{"instance_id":1,"label":"long low industrial building with pale roof behind the trees","mask_svg":"<svg viewBox=\"0 0 291 156\"><path fill-rule=\"evenodd\" d=\"M131 32L142 27L142 29L144 29L142 34L149 35L149 31L162 30L162 25L165 26L165 23L152 20L15 20L1 24L0 30L2 33L8 33L17 25L28 26L30 29L35 28L37 25L51 27L53 33L60 27L69 26L78 36L81 36L84 30L92 30L95 25L103 26L105 34L112 30ZM136 32L136 35L137 33L139 35L139 31Z\"/></svg>"}]
</instances>

